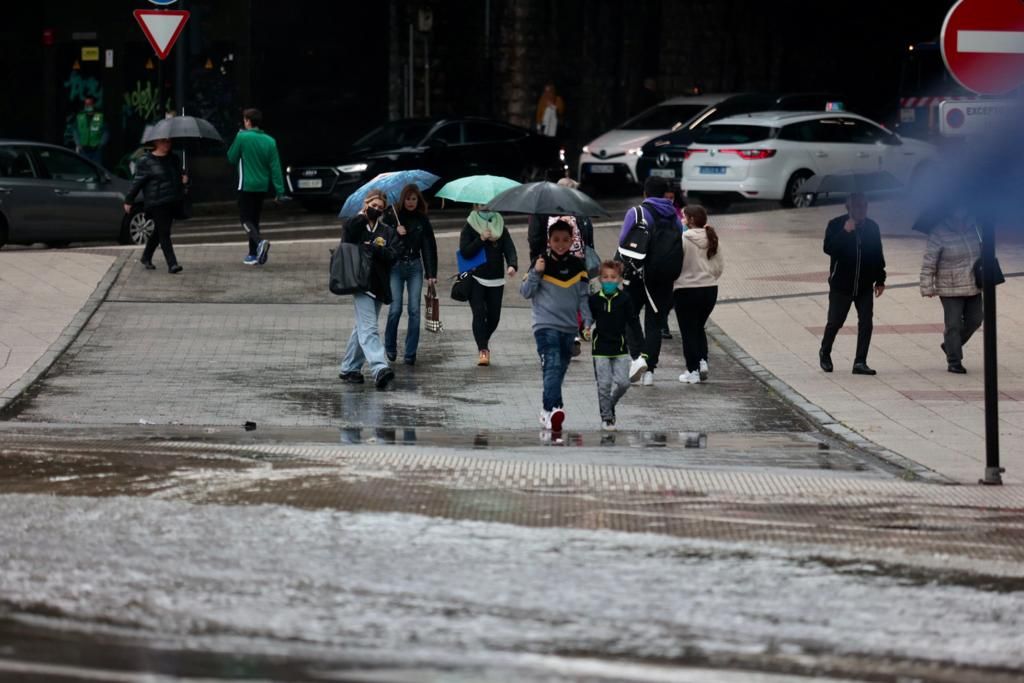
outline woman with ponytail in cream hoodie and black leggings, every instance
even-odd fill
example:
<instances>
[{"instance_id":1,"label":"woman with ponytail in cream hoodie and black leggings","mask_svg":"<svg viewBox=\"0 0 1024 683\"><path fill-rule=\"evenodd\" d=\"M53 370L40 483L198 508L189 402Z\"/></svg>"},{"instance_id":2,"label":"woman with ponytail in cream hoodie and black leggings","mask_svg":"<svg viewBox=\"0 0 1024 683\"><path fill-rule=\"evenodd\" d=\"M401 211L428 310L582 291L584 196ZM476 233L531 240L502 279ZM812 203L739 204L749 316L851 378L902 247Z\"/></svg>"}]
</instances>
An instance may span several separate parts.
<instances>
[{"instance_id":1,"label":"woman with ponytail in cream hoodie and black leggings","mask_svg":"<svg viewBox=\"0 0 1024 683\"><path fill-rule=\"evenodd\" d=\"M699 384L708 379L708 333L705 326L718 301L718 279L725 262L718 244L718 233L708 224L702 206L683 209L686 217L686 258L676 281L673 296L679 336L683 338L686 372L679 376L684 384Z\"/></svg>"}]
</instances>

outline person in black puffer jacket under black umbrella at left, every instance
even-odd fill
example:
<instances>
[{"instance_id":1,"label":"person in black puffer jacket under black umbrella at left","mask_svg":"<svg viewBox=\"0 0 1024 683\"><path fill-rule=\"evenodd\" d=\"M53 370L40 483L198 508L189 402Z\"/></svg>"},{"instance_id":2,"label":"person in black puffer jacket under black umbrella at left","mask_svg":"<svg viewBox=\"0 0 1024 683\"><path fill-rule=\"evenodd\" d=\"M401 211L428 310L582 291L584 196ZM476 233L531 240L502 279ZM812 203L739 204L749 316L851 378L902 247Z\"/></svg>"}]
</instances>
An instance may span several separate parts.
<instances>
[{"instance_id":1,"label":"person in black puffer jacket under black umbrella at left","mask_svg":"<svg viewBox=\"0 0 1024 683\"><path fill-rule=\"evenodd\" d=\"M141 191L145 215L153 221L153 233L145 243L140 259L146 270L156 268L153 254L159 244L167 260L167 269L170 272L181 272L171 245L171 223L174 222L177 207L184 200L184 185L187 182L188 176L181 168L181 160L171 153L171 141L168 139L157 140L153 152L135 165L131 189L125 197L125 213L131 213L135 198Z\"/></svg>"}]
</instances>

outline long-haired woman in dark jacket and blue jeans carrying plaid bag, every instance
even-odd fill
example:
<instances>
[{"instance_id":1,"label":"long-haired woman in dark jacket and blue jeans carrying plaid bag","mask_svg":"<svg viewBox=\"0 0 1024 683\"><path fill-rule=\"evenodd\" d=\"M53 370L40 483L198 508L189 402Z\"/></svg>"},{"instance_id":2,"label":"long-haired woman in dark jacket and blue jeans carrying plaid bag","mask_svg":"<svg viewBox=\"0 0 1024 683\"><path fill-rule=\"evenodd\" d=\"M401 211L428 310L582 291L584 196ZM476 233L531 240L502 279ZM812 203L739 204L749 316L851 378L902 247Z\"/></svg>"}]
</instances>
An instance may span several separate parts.
<instances>
[{"instance_id":1,"label":"long-haired woman in dark jacket and blue jeans carrying plaid bag","mask_svg":"<svg viewBox=\"0 0 1024 683\"><path fill-rule=\"evenodd\" d=\"M391 207L392 210L394 207ZM397 262L391 268L391 307L384 333L384 350L388 360L398 357L398 324L401 322L402 298L409 290L409 329L406 333L404 362L416 365L416 349L420 344L420 295L423 279L437 282L437 241L427 218L427 203L415 184L406 185L398 198L395 213L394 251Z\"/></svg>"}]
</instances>

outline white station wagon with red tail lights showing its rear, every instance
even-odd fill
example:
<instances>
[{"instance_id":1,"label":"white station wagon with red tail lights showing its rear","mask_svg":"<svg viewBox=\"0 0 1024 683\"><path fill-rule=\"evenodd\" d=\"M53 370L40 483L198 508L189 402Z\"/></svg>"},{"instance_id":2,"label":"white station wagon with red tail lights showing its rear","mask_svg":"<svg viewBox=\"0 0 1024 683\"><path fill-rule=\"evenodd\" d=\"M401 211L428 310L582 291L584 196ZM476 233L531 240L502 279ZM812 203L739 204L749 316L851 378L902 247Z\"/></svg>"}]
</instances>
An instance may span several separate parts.
<instances>
[{"instance_id":1,"label":"white station wagon with red tail lights showing its rear","mask_svg":"<svg viewBox=\"0 0 1024 683\"><path fill-rule=\"evenodd\" d=\"M682 186L719 201L738 196L808 206L801 186L812 175L888 171L909 184L935 158L931 144L855 114L763 112L699 129L686 150Z\"/></svg>"}]
</instances>

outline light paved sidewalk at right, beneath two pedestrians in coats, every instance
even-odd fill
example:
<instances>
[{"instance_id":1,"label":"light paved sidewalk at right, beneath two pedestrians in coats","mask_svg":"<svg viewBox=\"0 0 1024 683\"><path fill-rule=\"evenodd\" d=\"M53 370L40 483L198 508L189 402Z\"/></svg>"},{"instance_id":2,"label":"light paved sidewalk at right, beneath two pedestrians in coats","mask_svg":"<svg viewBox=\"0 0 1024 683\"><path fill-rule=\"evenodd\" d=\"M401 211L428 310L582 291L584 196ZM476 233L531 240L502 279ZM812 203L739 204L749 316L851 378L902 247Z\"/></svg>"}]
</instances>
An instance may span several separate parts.
<instances>
[{"instance_id":1,"label":"light paved sidewalk at right, beneath two pedestrians in coats","mask_svg":"<svg viewBox=\"0 0 1024 683\"><path fill-rule=\"evenodd\" d=\"M874 378L850 374L856 333L851 310L833 351L836 372L818 368L827 309L827 220L841 205L713 217L726 272L712 319L767 370L845 426L964 483L984 472L982 333L965 348L966 376L946 372L939 350L942 308L918 289L925 237L895 202L870 213L882 227L888 289L876 302L868 361ZM1004 238L1007 273L1024 271L1021 239ZM1007 483L1024 482L1024 278L998 288L999 425Z\"/></svg>"}]
</instances>

